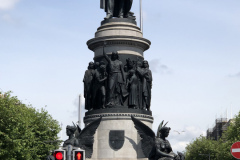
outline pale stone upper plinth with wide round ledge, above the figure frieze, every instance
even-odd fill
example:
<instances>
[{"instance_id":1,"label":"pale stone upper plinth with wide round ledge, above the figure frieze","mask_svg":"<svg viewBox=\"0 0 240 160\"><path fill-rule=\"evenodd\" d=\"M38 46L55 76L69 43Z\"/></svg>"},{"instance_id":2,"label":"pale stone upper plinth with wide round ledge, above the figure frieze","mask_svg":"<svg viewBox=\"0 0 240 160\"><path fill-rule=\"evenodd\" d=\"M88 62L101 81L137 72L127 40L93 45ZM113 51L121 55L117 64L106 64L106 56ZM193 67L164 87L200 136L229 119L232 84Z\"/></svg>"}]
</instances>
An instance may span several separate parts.
<instances>
[{"instance_id":1,"label":"pale stone upper plinth with wide round ledge, above the figure frieze","mask_svg":"<svg viewBox=\"0 0 240 160\"><path fill-rule=\"evenodd\" d=\"M131 55L143 59L143 52L149 48L151 42L143 38L134 22L126 18L103 21L95 33L95 38L87 42L88 48L94 52L94 59L102 57L104 42L107 44L107 54L117 51L124 59L132 58Z\"/></svg>"}]
</instances>

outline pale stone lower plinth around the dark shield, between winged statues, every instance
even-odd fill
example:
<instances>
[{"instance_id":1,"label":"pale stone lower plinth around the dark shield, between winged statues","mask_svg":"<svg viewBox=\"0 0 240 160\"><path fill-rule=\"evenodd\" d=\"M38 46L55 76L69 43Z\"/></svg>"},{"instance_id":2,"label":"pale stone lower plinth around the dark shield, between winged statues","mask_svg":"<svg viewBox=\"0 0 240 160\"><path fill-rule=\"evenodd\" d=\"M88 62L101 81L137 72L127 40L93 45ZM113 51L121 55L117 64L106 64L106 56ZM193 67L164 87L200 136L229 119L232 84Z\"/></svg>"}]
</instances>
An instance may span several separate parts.
<instances>
[{"instance_id":1,"label":"pale stone lower plinth around the dark shield, between winged statues","mask_svg":"<svg viewBox=\"0 0 240 160\"><path fill-rule=\"evenodd\" d=\"M87 112L84 123L88 124L100 116L102 121L94 136L92 160L146 159L141 149L141 138L134 127L131 116L152 128L151 112L128 108L99 109ZM124 143L120 149L114 149L110 145L109 133L116 130L124 130Z\"/></svg>"}]
</instances>

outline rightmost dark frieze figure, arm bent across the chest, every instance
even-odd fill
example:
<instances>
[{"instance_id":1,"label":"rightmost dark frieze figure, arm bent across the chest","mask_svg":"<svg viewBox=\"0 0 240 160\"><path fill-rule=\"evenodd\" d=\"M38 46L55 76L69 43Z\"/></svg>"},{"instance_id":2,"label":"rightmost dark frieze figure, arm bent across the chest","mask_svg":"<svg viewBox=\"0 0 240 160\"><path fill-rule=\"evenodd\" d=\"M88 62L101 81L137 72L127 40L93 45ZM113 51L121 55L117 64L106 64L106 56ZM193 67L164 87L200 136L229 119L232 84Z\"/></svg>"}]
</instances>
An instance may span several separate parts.
<instances>
[{"instance_id":1,"label":"rightmost dark frieze figure, arm bent across the chest","mask_svg":"<svg viewBox=\"0 0 240 160\"><path fill-rule=\"evenodd\" d=\"M150 111L151 90L152 90L152 72L149 69L148 61L142 62L142 69L137 70L138 74L143 78L143 109Z\"/></svg>"}]
</instances>

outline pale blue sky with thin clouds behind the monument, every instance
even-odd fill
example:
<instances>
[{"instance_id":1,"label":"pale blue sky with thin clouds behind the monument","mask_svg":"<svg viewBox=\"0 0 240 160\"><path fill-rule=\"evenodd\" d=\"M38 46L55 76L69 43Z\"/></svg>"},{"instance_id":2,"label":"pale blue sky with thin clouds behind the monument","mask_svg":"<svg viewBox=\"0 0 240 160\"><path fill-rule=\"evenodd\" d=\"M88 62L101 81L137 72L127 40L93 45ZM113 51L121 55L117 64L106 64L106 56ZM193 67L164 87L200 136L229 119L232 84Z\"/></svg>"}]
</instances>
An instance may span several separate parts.
<instances>
[{"instance_id":1,"label":"pale blue sky with thin clouds behind the monument","mask_svg":"<svg viewBox=\"0 0 240 160\"><path fill-rule=\"evenodd\" d=\"M143 0L153 130L169 121L174 151L240 110L239 8L239 0ZM132 11L139 25L139 1ZM94 56L86 42L104 17L99 0L0 0L0 91L45 108L63 140Z\"/></svg>"}]
</instances>

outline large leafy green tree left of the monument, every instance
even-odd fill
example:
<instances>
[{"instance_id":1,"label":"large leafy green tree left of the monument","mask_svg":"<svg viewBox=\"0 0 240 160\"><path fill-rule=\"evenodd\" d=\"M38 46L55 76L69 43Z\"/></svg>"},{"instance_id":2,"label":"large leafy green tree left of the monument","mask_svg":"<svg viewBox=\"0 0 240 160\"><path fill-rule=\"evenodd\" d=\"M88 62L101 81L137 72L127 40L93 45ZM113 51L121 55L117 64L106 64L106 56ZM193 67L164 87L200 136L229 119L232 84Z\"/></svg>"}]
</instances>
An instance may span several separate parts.
<instances>
[{"instance_id":1,"label":"large leafy green tree left of the monument","mask_svg":"<svg viewBox=\"0 0 240 160\"><path fill-rule=\"evenodd\" d=\"M0 93L0 159L41 160L59 143L59 123L46 110L20 103L10 92Z\"/></svg>"}]
</instances>

